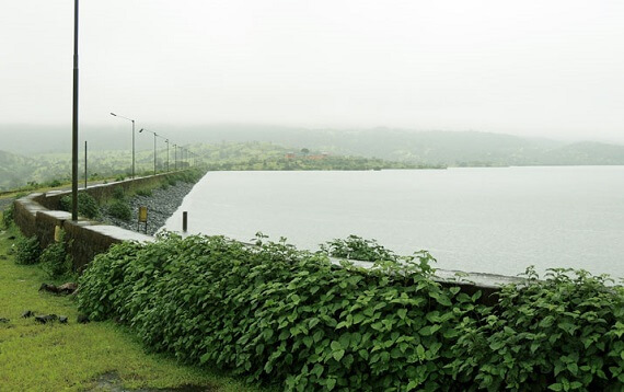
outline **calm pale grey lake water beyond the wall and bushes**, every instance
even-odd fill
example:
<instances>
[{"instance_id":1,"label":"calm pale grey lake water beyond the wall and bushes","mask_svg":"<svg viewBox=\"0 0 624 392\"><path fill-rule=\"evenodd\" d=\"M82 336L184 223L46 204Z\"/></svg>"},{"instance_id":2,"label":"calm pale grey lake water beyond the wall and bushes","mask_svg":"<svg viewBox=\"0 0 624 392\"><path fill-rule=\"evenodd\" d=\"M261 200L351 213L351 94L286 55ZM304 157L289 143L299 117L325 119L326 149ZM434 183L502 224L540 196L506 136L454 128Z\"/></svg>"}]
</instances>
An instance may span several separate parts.
<instances>
[{"instance_id":1,"label":"calm pale grey lake water beyond the wall and bushes","mask_svg":"<svg viewBox=\"0 0 624 392\"><path fill-rule=\"evenodd\" d=\"M165 228L300 249L357 234L443 269L624 277L624 166L210 172Z\"/></svg>"}]
</instances>

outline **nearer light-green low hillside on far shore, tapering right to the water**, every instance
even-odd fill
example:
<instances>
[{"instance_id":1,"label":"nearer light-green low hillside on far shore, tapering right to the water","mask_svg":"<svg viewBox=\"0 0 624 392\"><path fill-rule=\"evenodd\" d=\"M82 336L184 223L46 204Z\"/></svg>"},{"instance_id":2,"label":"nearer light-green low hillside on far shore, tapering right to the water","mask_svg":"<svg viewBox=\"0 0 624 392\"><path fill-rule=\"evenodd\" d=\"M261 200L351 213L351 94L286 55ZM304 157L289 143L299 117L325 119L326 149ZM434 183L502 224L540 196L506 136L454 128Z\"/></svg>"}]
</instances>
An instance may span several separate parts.
<instances>
[{"instance_id":1,"label":"nearer light-green low hillside on far shore, tapering right to the water","mask_svg":"<svg viewBox=\"0 0 624 392\"><path fill-rule=\"evenodd\" d=\"M180 171L190 168L208 170L374 170L374 169L428 169L440 165L412 162L392 162L377 158L345 157L336 153L323 155L321 151L296 149L269 142L195 143L187 146L195 154L193 160L182 160L170 151L157 151L157 172ZM305 151L305 152L302 152ZM290 157L290 158L287 158ZM174 162L174 158L176 161ZM20 188L32 192L42 187L58 187L71 183L68 153L46 153L34 158L20 157L0 151L0 191ZM89 181L123 180L129 176L129 160L126 151L93 151L89 158ZM80 183L83 178L83 162L80 161ZM2 174L4 173L5 174ZM137 175L153 174L152 150L137 151Z\"/></svg>"}]
</instances>

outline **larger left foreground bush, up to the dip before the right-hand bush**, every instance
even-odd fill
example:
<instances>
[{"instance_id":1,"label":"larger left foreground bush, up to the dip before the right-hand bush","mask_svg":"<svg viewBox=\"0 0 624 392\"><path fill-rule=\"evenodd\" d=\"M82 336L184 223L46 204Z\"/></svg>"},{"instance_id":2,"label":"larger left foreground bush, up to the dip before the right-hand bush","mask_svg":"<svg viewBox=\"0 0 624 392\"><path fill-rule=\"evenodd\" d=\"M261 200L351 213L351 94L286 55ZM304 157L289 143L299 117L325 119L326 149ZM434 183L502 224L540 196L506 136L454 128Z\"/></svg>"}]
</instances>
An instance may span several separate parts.
<instances>
[{"instance_id":1,"label":"larger left foreground bush, up to the dip before the right-hand bush","mask_svg":"<svg viewBox=\"0 0 624 392\"><path fill-rule=\"evenodd\" d=\"M173 234L114 245L81 277L80 310L126 322L183 361L288 389L435 390L450 380L453 326L473 299L430 279L430 255L365 270L258 245Z\"/></svg>"}]
</instances>

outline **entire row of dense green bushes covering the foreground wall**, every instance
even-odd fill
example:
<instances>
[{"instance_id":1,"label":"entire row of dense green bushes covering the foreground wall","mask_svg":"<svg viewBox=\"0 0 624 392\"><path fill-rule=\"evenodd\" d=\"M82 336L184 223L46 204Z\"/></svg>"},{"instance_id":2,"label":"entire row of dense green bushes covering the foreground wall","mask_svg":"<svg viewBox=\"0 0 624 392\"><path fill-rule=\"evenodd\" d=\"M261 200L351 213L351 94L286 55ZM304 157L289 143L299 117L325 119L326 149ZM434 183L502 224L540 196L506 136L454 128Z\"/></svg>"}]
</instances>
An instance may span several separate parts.
<instances>
[{"instance_id":1,"label":"entire row of dense green bushes covering the foreground wall","mask_svg":"<svg viewBox=\"0 0 624 392\"><path fill-rule=\"evenodd\" d=\"M166 234L96 256L79 307L154 350L287 390L623 388L621 288L555 275L487 308L431 280L431 261L365 270L285 243Z\"/></svg>"}]
</instances>

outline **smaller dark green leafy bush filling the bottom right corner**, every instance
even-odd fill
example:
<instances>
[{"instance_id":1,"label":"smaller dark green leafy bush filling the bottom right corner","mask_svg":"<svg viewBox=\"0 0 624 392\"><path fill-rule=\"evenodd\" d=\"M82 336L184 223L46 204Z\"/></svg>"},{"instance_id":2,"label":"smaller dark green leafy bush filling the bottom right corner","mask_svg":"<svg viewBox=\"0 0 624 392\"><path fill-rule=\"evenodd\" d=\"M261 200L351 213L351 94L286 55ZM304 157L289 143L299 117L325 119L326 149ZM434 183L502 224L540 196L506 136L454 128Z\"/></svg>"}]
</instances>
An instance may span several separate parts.
<instances>
[{"instance_id":1,"label":"smaller dark green leafy bush filling the bottom right corner","mask_svg":"<svg viewBox=\"0 0 624 392\"><path fill-rule=\"evenodd\" d=\"M527 270L524 287L506 286L482 318L460 325L451 368L470 390L622 391L624 290L605 276Z\"/></svg>"}]
</instances>

